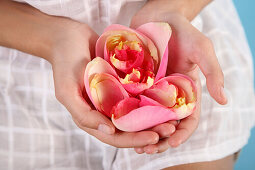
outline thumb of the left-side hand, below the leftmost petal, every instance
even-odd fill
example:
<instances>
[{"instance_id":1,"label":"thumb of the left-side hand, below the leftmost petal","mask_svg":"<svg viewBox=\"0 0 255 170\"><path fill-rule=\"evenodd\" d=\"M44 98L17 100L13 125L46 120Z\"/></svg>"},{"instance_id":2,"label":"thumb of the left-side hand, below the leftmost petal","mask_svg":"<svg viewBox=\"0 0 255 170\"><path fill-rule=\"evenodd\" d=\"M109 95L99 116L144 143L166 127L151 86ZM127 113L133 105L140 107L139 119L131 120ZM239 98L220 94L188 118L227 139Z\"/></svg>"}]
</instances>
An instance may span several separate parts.
<instances>
[{"instance_id":1,"label":"thumb of the left-side hand, below the leftmost petal","mask_svg":"<svg viewBox=\"0 0 255 170\"><path fill-rule=\"evenodd\" d=\"M106 134L115 132L115 127L110 119L90 108L83 98L81 87L76 82L66 80L61 87L56 87L56 97L71 113L80 128L98 129Z\"/></svg>"}]
</instances>

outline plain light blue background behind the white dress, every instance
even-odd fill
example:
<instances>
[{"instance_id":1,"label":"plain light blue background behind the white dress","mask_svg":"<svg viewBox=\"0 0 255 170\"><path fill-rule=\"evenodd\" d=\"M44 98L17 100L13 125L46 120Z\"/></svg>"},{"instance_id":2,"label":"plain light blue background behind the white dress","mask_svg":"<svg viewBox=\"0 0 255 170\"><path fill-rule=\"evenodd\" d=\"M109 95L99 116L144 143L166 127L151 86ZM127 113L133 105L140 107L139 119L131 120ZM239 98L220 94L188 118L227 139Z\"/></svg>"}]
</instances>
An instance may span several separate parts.
<instances>
[{"instance_id":1,"label":"plain light blue background behind the white dress","mask_svg":"<svg viewBox=\"0 0 255 170\"><path fill-rule=\"evenodd\" d=\"M240 19L243 23L248 39L253 61L255 60L255 0L233 0ZM253 65L254 62L253 62ZM254 111L255 112L255 111ZM251 132L248 145L246 145L238 159L235 170L255 170L255 128Z\"/></svg>"}]
</instances>

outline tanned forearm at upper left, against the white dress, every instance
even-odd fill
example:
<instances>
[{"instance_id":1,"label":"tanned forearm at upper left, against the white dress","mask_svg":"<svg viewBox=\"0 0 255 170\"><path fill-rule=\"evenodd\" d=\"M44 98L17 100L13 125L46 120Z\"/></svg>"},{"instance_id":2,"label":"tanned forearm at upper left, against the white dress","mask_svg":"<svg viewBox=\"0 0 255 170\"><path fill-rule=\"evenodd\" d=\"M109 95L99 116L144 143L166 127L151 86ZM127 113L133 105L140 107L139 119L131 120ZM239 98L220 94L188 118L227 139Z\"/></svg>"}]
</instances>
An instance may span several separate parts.
<instances>
[{"instance_id":1,"label":"tanned forearm at upper left, against the white dress","mask_svg":"<svg viewBox=\"0 0 255 170\"><path fill-rule=\"evenodd\" d=\"M17 2L0 0L0 45L49 60L67 19L46 15Z\"/></svg>"}]
</instances>

